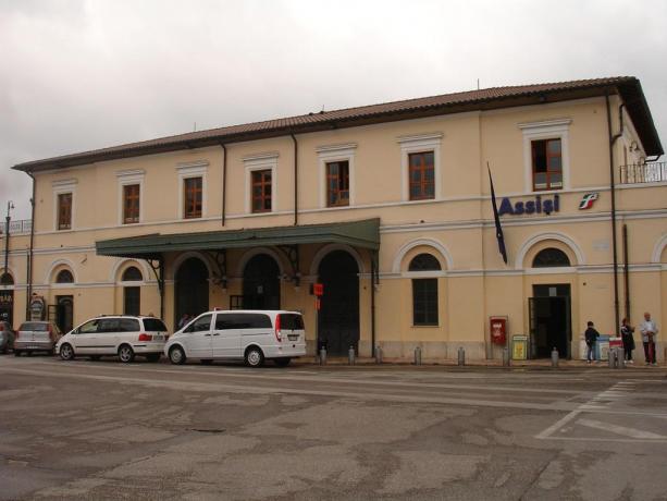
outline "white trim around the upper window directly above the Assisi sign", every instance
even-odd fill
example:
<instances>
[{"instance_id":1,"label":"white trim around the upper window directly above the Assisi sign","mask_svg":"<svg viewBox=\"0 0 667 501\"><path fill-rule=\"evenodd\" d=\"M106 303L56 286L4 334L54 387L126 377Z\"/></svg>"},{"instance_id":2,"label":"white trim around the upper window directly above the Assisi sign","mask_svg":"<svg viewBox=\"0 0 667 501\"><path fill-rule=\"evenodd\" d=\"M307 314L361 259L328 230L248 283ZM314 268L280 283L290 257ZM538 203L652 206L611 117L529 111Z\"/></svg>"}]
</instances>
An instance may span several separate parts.
<instances>
[{"instance_id":1,"label":"white trim around the upper window directly above the Assisi sign","mask_svg":"<svg viewBox=\"0 0 667 501\"><path fill-rule=\"evenodd\" d=\"M560 192L570 188L570 140L571 119L546 120L542 122L520 123L523 132L523 180L527 193L544 193L545 190L533 190L533 158L531 143L540 139L560 139L560 159L563 162L563 187L546 190Z\"/></svg>"}]
</instances>

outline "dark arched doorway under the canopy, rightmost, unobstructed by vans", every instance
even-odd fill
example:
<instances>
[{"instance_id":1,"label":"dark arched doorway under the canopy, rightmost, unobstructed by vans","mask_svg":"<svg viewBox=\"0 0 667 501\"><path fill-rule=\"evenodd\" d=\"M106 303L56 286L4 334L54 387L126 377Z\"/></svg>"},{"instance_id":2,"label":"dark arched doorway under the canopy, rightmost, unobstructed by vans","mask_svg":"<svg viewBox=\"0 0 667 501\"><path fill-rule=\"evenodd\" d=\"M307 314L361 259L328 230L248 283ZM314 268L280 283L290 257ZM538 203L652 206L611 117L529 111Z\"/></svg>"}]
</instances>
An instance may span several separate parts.
<instances>
[{"instance_id":1,"label":"dark arched doorway under the canopy, rightmost, unobstructed by vans","mask_svg":"<svg viewBox=\"0 0 667 501\"><path fill-rule=\"evenodd\" d=\"M359 347L359 267L345 250L328 254L318 269L324 295L318 314L318 339L331 355Z\"/></svg>"}]
</instances>

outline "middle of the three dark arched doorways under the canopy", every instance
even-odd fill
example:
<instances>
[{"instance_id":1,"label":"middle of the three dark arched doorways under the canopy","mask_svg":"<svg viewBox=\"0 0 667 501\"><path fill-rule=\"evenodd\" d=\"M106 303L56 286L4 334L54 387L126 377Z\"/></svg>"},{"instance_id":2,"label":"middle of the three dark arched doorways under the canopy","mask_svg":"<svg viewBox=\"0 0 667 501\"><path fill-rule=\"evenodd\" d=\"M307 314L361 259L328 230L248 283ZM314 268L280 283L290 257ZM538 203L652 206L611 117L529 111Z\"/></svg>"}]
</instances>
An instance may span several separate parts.
<instances>
[{"instance_id":1,"label":"middle of the three dark arched doorways under the canopy","mask_svg":"<svg viewBox=\"0 0 667 501\"><path fill-rule=\"evenodd\" d=\"M281 270L268 254L258 254L243 273L243 307L245 309L280 309Z\"/></svg>"}]
</instances>

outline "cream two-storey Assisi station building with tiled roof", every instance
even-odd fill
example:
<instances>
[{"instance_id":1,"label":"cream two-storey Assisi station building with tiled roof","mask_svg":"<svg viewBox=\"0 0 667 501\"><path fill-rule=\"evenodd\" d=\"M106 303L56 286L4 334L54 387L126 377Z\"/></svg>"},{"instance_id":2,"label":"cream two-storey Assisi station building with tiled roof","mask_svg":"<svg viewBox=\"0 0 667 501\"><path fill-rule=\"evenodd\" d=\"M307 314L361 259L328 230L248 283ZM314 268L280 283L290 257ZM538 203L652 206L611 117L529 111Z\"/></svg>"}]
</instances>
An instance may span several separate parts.
<instances>
[{"instance_id":1,"label":"cream two-storey Assisi station building with tiled roof","mask_svg":"<svg viewBox=\"0 0 667 501\"><path fill-rule=\"evenodd\" d=\"M588 320L612 334L649 310L663 361L662 155L640 82L609 77L26 161L13 169L34 180L33 218L9 224L0 309L63 330L100 314L174 329L214 307L295 309L311 353L477 359L519 334L529 357L579 357Z\"/></svg>"}]
</instances>

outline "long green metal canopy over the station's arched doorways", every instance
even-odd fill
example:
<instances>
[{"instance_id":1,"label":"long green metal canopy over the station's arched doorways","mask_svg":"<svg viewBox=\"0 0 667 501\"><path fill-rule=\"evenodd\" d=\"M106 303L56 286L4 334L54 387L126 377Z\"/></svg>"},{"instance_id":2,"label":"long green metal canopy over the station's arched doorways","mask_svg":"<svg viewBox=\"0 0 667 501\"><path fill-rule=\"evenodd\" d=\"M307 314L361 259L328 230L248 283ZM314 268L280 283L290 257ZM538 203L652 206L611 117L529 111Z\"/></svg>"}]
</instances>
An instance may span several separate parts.
<instances>
[{"instance_id":1,"label":"long green metal canopy over the station's arched doorways","mask_svg":"<svg viewBox=\"0 0 667 501\"><path fill-rule=\"evenodd\" d=\"M169 252L324 243L348 244L376 250L380 248L380 219L200 233L155 233L102 240L96 242L95 246L100 256L155 259Z\"/></svg>"}]
</instances>

